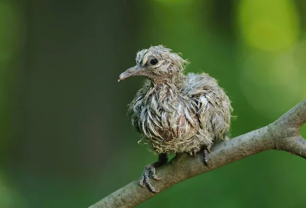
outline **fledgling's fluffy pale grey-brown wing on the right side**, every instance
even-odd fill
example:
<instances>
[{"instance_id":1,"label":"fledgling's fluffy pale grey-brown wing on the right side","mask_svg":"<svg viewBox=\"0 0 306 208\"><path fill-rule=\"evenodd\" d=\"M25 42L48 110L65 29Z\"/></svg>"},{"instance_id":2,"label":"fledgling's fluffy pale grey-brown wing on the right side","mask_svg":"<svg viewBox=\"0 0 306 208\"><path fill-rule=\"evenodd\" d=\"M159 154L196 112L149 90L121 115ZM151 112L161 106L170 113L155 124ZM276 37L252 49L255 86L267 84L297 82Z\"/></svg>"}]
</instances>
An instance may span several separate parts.
<instances>
[{"instance_id":1,"label":"fledgling's fluffy pale grey-brown wing on the right side","mask_svg":"<svg viewBox=\"0 0 306 208\"><path fill-rule=\"evenodd\" d=\"M202 134L208 133L214 140L222 140L231 122L230 99L217 81L206 73L189 73L186 80L183 92L196 109Z\"/></svg>"}]
</instances>

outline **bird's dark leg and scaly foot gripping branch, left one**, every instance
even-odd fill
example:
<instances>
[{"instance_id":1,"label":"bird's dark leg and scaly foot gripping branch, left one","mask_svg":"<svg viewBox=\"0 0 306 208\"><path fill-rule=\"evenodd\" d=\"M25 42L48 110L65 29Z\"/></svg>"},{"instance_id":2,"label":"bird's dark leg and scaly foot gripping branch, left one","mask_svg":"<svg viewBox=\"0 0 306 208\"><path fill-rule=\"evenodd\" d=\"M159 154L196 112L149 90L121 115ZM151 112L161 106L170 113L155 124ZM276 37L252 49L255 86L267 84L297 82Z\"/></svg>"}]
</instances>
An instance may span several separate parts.
<instances>
[{"instance_id":1,"label":"bird's dark leg and scaly foot gripping branch, left one","mask_svg":"<svg viewBox=\"0 0 306 208\"><path fill-rule=\"evenodd\" d=\"M156 168L158 168L158 167L160 167L160 166L166 164L167 161L168 161L167 154L161 153L161 154L159 154L158 162L145 166L145 167L144 167L144 170L143 170L143 172L142 172L141 178L140 178L140 180L139 180L140 186L146 187L150 192L158 193L159 190L155 189L155 188L151 185L151 183L150 183L149 174L151 173L153 179L155 179L155 180L160 180L160 179L162 179L162 178L160 178L160 177L157 176L157 174L156 174Z\"/></svg>"}]
</instances>

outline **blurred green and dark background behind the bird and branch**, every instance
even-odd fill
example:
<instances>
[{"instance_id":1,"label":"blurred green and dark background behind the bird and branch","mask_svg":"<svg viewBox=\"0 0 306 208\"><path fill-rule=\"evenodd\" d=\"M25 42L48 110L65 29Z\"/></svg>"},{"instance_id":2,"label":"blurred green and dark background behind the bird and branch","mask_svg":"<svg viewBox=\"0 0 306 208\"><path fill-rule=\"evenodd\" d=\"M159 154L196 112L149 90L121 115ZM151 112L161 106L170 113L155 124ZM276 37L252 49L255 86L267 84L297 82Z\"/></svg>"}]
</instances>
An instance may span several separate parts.
<instances>
[{"instance_id":1,"label":"blurred green and dark background behind the bird and branch","mask_svg":"<svg viewBox=\"0 0 306 208\"><path fill-rule=\"evenodd\" d=\"M88 207L156 156L117 83L141 48L164 44L233 100L231 137L306 97L306 2L0 2L0 207ZM306 127L302 127L306 137ZM303 159L263 152L178 184L139 207L303 207Z\"/></svg>"}]
</instances>

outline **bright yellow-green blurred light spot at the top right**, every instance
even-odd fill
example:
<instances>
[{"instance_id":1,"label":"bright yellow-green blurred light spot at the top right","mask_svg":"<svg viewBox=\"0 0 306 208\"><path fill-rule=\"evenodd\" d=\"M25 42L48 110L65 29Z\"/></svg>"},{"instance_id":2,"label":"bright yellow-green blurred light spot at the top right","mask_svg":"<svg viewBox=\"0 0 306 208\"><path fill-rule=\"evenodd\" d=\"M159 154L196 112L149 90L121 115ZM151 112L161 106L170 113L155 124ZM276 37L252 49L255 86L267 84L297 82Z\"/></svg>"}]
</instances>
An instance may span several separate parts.
<instances>
[{"instance_id":1,"label":"bright yellow-green blurred light spot at the top right","mask_svg":"<svg viewBox=\"0 0 306 208\"><path fill-rule=\"evenodd\" d=\"M298 38L298 13L289 0L244 0L238 7L238 21L250 47L278 51L290 48Z\"/></svg>"}]
</instances>

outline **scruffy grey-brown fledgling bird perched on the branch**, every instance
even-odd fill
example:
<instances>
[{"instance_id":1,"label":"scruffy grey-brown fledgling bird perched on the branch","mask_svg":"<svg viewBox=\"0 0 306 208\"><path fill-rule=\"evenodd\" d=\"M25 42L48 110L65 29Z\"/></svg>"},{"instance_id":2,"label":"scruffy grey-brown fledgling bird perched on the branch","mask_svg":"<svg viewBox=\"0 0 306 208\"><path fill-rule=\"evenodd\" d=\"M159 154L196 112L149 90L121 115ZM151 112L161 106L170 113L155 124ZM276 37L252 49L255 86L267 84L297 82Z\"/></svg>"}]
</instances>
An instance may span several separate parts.
<instances>
[{"instance_id":1,"label":"scruffy grey-brown fledgling bird perched on the branch","mask_svg":"<svg viewBox=\"0 0 306 208\"><path fill-rule=\"evenodd\" d=\"M163 45L141 49L136 65L119 75L118 82L145 76L143 86L127 106L136 131L158 154L158 161L145 166L139 184L158 193L149 175L159 180L156 168L168 162L168 154L208 154L214 143L224 140L231 124L231 100L207 73L184 74L189 62L181 53Z\"/></svg>"}]
</instances>

